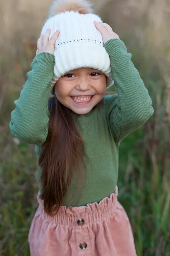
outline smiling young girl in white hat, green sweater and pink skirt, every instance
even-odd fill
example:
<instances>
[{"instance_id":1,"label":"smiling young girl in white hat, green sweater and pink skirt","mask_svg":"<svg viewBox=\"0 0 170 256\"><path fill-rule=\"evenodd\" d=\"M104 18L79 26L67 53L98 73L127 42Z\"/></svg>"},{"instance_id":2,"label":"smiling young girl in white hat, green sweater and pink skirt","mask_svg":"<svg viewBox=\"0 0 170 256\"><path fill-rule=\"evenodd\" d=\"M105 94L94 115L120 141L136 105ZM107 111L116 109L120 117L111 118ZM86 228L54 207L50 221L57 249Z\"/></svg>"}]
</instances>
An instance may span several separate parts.
<instances>
[{"instance_id":1,"label":"smiling young girl in white hat, green sweater and pink skirt","mask_svg":"<svg viewBox=\"0 0 170 256\"><path fill-rule=\"evenodd\" d=\"M152 102L125 44L92 12L86 0L53 3L11 113L12 134L39 160L31 256L136 256L117 200L119 144Z\"/></svg>"}]
</instances>

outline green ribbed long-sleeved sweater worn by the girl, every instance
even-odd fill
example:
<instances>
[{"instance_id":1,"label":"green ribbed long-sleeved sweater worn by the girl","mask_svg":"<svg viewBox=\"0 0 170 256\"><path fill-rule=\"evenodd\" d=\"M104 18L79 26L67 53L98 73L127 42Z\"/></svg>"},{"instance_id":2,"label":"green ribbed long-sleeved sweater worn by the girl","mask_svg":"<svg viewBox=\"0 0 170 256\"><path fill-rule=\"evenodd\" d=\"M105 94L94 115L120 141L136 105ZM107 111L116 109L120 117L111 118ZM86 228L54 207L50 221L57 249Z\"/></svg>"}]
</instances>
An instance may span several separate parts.
<instances>
[{"instance_id":1,"label":"green ribbed long-sleeved sweater worn by the girl","mask_svg":"<svg viewBox=\"0 0 170 256\"><path fill-rule=\"evenodd\" d=\"M104 96L104 104L85 115L75 114L85 143L86 182L78 203L71 206L99 202L114 192L119 167L119 144L130 132L142 126L153 115L152 101L148 90L134 67L123 41L111 39L104 44L110 56L116 93ZM11 133L26 143L35 144L39 158L41 145L48 134L49 82L53 77L54 55L42 52L37 55L31 71L27 73L20 98L14 101L16 108L11 113ZM41 168L38 168L37 180ZM76 180L64 197L74 196ZM39 183L39 190L41 186Z\"/></svg>"}]
</instances>

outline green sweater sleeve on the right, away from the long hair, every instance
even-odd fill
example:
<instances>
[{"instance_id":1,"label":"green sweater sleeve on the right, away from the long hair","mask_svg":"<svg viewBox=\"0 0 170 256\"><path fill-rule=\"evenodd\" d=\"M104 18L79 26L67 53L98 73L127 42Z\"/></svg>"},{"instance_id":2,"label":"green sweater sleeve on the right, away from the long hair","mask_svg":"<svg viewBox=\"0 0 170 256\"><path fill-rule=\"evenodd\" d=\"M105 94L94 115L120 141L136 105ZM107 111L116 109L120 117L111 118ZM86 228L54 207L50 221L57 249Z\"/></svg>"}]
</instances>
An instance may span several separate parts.
<instances>
[{"instance_id":1,"label":"green sweater sleeve on the right, away from the long hair","mask_svg":"<svg viewBox=\"0 0 170 256\"><path fill-rule=\"evenodd\" d=\"M119 144L130 132L147 122L154 110L148 90L124 42L110 39L104 47L110 57L116 89L116 94L105 96L106 115L114 140Z\"/></svg>"}]
</instances>

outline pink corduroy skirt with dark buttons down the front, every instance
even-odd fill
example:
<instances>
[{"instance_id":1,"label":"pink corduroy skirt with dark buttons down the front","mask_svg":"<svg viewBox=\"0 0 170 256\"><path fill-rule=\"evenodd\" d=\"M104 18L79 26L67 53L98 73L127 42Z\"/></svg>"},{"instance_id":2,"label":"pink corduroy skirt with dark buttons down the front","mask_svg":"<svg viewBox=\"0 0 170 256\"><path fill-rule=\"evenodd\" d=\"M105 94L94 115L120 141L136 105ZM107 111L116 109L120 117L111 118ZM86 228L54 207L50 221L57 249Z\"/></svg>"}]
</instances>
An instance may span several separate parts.
<instances>
[{"instance_id":1,"label":"pink corduroy skirt with dark buttons down the front","mask_svg":"<svg viewBox=\"0 0 170 256\"><path fill-rule=\"evenodd\" d=\"M62 206L54 217L45 213L39 195L28 235L31 256L136 256L129 218L117 200L117 186L99 204L67 210Z\"/></svg>"}]
</instances>

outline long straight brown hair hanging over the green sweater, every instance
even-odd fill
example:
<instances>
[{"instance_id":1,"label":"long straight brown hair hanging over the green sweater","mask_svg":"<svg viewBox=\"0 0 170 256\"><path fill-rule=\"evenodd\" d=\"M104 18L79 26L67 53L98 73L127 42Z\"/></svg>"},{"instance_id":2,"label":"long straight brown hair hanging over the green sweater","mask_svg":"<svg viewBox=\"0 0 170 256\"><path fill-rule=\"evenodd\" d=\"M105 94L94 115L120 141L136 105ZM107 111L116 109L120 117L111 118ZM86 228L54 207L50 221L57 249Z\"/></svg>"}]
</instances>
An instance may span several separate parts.
<instances>
[{"instance_id":1,"label":"long straight brown hair hanging over the green sweater","mask_svg":"<svg viewBox=\"0 0 170 256\"><path fill-rule=\"evenodd\" d=\"M44 209L54 215L62 205L74 175L77 177L78 192L85 184L85 148L74 112L62 105L56 96L48 99L48 135L42 147L39 166L41 195ZM99 107L102 101L96 107ZM66 205L68 207L68 204Z\"/></svg>"}]
</instances>

